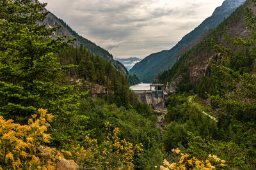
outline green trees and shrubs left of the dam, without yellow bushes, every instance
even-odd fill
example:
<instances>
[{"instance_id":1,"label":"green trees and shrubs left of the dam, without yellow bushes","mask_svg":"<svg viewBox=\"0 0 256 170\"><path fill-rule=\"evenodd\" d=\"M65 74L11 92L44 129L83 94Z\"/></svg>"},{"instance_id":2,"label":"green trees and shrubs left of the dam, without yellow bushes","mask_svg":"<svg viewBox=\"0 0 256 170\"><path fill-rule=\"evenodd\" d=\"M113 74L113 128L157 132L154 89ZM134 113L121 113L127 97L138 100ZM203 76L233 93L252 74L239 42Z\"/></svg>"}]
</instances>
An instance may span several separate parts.
<instances>
[{"instance_id":1,"label":"green trees and shrubs left of the dam, without yellow bushes","mask_svg":"<svg viewBox=\"0 0 256 170\"><path fill-rule=\"evenodd\" d=\"M120 138L143 144L144 152L134 159L136 168L161 164L161 133L149 106L136 101L125 76L109 62L83 46L69 46L65 37L49 38L57 28L38 25L47 15L44 7L38 1L0 1L0 115L27 124L37 108L49 110L54 115L49 146L60 149L70 141L84 144L88 134L100 145L109 122L113 129L119 127ZM93 101L84 81L108 88L107 99Z\"/></svg>"}]
</instances>

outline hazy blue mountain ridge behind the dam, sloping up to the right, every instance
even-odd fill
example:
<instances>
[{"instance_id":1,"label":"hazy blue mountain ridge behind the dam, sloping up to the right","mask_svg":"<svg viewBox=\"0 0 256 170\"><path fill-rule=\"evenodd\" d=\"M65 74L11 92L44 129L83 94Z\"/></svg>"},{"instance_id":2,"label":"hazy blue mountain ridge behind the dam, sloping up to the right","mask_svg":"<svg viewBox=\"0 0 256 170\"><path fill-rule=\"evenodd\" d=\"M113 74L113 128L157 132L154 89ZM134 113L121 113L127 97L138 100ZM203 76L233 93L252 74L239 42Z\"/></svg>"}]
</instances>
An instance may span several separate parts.
<instances>
[{"instance_id":1,"label":"hazy blue mountain ridge behind the dam, sloping up to the right","mask_svg":"<svg viewBox=\"0 0 256 170\"><path fill-rule=\"evenodd\" d=\"M202 24L186 34L171 50L154 53L145 57L141 62L135 64L129 73L136 74L143 82L152 82L157 74L173 66L182 48L198 39L205 32L217 27L223 22L224 18L227 18L238 6L244 3L244 1L245 0L224 1L220 7L216 8L211 17L206 18Z\"/></svg>"}]
</instances>

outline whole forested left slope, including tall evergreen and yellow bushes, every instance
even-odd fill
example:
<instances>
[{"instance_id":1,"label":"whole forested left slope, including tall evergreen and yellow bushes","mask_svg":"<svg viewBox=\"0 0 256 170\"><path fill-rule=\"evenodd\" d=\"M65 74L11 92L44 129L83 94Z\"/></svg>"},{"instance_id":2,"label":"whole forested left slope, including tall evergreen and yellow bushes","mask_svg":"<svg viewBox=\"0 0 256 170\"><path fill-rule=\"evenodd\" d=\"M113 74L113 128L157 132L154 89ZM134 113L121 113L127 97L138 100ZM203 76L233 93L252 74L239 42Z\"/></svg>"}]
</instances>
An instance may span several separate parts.
<instances>
[{"instance_id":1,"label":"whole forested left slope, including tall evergreen and yellow bushes","mask_svg":"<svg viewBox=\"0 0 256 170\"><path fill-rule=\"evenodd\" d=\"M39 25L45 5L0 1L0 169L58 169L64 157L82 169L161 164L156 115L111 62Z\"/></svg>"}]
</instances>

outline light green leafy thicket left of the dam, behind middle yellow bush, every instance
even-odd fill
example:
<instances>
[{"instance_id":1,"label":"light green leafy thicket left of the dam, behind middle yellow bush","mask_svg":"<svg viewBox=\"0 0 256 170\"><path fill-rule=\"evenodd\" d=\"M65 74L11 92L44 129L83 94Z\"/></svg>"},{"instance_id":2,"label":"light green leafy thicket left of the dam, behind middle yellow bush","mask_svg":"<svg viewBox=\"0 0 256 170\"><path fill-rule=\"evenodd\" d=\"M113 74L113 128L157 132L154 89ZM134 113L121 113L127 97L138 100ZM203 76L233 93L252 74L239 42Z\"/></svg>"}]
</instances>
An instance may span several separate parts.
<instances>
[{"instance_id":1,"label":"light green leafy thicket left of the dam, behind middle yellow bush","mask_svg":"<svg viewBox=\"0 0 256 170\"><path fill-rule=\"evenodd\" d=\"M156 115L147 111L138 113L123 106L118 108L115 104L109 105L102 100L93 101L90 98L83 99L81 103L81 112L89 117L86 129L89 129L92 138L103 141L106 138L104 123L109 122L113 127L120 129L122 138L134 145L142 143L144 152L134 160L136 167L152 169L161 164L164 155L161 150L161 133L156 127Z\"/></svg>"}]
</instances>

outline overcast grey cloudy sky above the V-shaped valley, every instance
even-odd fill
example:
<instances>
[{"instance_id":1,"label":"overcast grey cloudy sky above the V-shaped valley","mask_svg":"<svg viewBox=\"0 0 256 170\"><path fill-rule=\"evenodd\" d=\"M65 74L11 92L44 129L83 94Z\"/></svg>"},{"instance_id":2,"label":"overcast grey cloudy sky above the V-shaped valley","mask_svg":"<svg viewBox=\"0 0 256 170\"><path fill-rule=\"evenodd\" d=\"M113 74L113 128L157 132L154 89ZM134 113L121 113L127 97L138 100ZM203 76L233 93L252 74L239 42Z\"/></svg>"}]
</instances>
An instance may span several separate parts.
<instances>
[{"instance_id":1,"label":"overcast grey cloudy sky above the V-shaped valley","mask_svg":"<svg viewBox=\"0 0 256 170\"><path fill-rule=\"evenodd\" d=\"M224 0L42 0L46 8L116 58L170 50Z\"/></svg>"}]
</instances>

